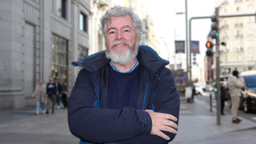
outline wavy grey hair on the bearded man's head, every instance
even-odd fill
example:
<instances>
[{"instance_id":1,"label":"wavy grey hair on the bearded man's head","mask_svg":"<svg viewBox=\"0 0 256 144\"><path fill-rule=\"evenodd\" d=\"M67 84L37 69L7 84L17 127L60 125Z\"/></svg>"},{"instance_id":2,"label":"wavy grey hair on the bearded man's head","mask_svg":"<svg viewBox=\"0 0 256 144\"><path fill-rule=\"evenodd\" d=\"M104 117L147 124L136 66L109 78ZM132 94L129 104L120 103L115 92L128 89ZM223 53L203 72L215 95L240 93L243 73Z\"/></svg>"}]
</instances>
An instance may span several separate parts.
<instances>
[{"instance_id":1,"label":"wavy grey hair on the bearded man's head","mask_svg":"<svg viewBox=\"0 0 256 144\"><path fill-rule=\"evenodd\" d=\"M111 17L124 17L126 15L130 15L132 18L135 33L140 38L142 35L142 23L140 18L131 9L119 5L114 6L110 10L106 11L105 15L103 15L103 17L100 19L103 36L106 38L107 21L109 20L111 22Z\"/></svg>"}]
</instances>

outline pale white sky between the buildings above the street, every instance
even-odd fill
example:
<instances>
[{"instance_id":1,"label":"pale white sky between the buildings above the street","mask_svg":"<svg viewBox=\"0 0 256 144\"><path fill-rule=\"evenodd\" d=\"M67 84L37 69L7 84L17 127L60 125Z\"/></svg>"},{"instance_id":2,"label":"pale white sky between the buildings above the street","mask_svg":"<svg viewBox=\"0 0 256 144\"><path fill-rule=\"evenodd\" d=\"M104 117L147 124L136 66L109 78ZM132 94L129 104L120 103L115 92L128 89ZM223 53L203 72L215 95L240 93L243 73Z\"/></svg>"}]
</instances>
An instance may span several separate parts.
<instances>
[{"instance_id":1,"label":"pale white sky between the buildings above the street","mask_svg":"<svg viewBox=\"0 0 256 144\"><path fill-rule=\"evenodd\" d=\"M174 31L176 40L186 38L185 14L177 15L177 12L185 12L185 0L180 1L147 1L149 14L153 18L155 32L158 37L163 37L174 53ZM187 0L188 27L192 17L208 17L214 14L215 0ZM201 54L197 55L197 63L203 66L206 52L206 39L211 30L210 19L194 19L191 21L191 40L199 41ZM184 54L184 58L186 55Z\"/></svg>"}]
</instances>

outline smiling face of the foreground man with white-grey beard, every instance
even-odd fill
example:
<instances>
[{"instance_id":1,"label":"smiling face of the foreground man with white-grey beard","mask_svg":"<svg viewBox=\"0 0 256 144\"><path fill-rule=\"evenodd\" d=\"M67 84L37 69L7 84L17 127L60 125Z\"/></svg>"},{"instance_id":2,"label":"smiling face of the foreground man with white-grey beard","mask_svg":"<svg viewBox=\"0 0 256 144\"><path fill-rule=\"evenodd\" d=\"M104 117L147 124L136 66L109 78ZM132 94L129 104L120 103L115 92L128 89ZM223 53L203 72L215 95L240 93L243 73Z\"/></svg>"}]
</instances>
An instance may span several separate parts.
<instances>
[{"instance_id":1,"label":"smiling face of the foreground man with white-grey beard","mask_svg":"<svg viewBox=\"0 0 256 144\"><path fill-rule=\"evenodd\" d=\"M138 45L139 37L135 33L132 18L129 15L111 17L111 23L107 21L106 55L113 62L119 65L129 63L137 55Z\"/></svg>"}]
</instances>

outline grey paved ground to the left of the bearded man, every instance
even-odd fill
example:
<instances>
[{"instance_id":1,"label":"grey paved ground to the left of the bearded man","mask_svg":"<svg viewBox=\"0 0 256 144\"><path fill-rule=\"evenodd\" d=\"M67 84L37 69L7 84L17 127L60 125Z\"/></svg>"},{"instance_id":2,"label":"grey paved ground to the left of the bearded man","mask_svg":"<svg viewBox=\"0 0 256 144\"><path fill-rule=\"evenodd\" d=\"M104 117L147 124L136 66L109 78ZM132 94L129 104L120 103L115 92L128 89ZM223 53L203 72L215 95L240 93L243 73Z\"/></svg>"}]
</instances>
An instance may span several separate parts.
<instances>
[{"instance_id":1,"label":"grey paved ground to the left of the bearded man","mask_svg":"<svg viewBox=\"0 0 256 144\"><path fill-rule=\"evenodd\" d=\"M68 128L67 109L35 115L35 107L0 110L0 143L75 143Z\"/></svg>"}]
</instances>

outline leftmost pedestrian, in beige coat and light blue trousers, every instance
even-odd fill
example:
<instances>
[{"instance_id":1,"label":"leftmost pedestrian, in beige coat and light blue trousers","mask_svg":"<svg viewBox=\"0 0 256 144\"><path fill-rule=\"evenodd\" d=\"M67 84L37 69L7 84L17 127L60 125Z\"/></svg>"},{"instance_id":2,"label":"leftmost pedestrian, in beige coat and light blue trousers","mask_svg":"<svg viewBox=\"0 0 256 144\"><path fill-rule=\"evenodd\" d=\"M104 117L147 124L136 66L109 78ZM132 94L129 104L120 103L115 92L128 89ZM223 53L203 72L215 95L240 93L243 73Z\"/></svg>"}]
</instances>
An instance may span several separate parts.
<instances>
[{"instance_id":1,"label":"leftmost pedestrian, in beige coat and light blue trousers","mask_svg":"<svg viewBox=\"0 0 256 144\"><path fill-rule=\"evenodd\" d=\"M45 85L42 80L39 80L39 83L35 87L35 91L32 94L32 97L36 99L36 114L39 114L40 104L42 105L42 113L45 113L44 101L45 101Z\"/></svg>"}]
</instances>

